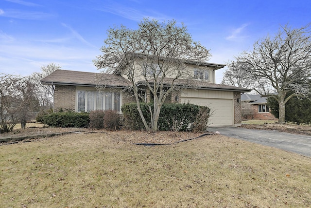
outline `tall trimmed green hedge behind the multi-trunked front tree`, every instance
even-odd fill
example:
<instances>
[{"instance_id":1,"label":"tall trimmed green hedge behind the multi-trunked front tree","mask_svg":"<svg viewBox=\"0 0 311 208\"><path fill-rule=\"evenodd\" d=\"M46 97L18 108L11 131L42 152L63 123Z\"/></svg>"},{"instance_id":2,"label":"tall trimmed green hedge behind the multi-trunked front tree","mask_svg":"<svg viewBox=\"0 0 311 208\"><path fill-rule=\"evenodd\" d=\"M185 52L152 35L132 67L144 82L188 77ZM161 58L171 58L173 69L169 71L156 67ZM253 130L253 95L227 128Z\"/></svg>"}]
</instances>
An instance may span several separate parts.
<instances>
[{"instance_id":1,"label":"tall trimmed green hedge behind the multi-trunked front tree","mask_svg":"<svg viewBox=\"0 0 311 208\"><path fill-rule=\"evenodd\" d=\"M149 105L153 109L153 104L151 103ZM200 119L201 120L208 119L206 118L207 116L206 114L204 114L205 119L203 119L204 110L202 110L202 115L200 115L200 108L201 108L200 106L194 104L177 104L177 103L163 104L158 120L158 130L187 131L191 124L194 124L196 122L196 125L198 125ZM140 109L147 123L150 124L151 120L150 120L149 106L146 103L140 103ZM205 111L207 111L208 108L204 107L204 109ZM122 112L124 115L125 124L127 126L135 130L145 129L143 122L140 118L140 115L138 113L136 103L124 104L122 106ZM202 118L198 118L198 116L199 117L201 116ZM202 124L201 129L203 129L203 125L205 125L205 123ZM206 127L204 128L204 130L206 129ZM196 129L199 129L199 127L196 127Z\"/></svg>"}]
</instances>

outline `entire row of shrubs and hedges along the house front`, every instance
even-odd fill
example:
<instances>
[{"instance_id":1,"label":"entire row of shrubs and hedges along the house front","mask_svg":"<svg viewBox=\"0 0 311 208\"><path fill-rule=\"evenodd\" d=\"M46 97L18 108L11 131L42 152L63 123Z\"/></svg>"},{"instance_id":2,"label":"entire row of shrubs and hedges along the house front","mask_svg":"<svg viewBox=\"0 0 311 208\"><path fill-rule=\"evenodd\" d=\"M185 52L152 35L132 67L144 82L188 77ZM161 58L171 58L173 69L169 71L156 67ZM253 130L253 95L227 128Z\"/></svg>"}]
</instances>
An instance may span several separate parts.
<instances>
[{"instance_id":1,"label":"entire row of shrubs and hedges along the house front","mask_svg":"<svg viewBox=\"0 0 311 208\"><path fill-rule=\"evenodd\" d=\"M141 103L140 109L148 124L151 124L149 106ZM136 103L124 104L122 112L125 125L134 130L145 129L137 110ZM94 128L115 130L119 126L120 115L114 111L92 111L90 113L42 113L37 117L40 122L51 127ZM158 119L159 131L205 131L209 120L209 109L194 104L163 104Z\"/></svg>"}]
</instances>

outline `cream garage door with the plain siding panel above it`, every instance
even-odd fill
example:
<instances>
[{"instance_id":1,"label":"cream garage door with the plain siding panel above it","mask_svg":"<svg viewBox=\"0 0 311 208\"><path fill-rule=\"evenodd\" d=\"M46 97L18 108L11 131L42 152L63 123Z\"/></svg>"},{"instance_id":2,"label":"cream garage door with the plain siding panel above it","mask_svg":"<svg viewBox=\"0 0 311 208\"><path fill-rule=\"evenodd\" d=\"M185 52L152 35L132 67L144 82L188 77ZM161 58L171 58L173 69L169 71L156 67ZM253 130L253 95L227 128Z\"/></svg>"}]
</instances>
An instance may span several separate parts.
<instances>
[{"instance_id":1,"label":"cream garage door with the plain siding panel above it","mask_svg":"<svg viewBox=\"0 0 311 208\"><path fill-rule=\"evenodd\" d=\"M233 93L208 90L185 90L182 103L207 106L212 115L209 126L234 126Z\"/></svg>"}]
</instances>

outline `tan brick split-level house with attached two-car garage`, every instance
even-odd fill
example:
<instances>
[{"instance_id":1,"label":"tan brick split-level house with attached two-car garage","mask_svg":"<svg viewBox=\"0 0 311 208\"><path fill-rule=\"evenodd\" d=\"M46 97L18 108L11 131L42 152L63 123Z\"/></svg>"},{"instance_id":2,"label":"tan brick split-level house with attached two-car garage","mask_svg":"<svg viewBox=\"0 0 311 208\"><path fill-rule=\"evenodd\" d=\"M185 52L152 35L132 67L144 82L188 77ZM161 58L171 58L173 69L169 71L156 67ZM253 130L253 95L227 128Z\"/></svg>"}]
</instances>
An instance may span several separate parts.
<instances>
[{"instance_id":1,"label":"tan brick split-level house with attached two-car garage","mask_svg":"<svg viewBox=\"0 0 311 208\"><path fill-rule=\"evenodd\" d=\"M183 89L167 97L166 102L208 106L213 112L210 126L241 126L241 93L250 90L215 84L215 71L223 67L225 67L223 64L207 62L187 63L187 68L195 80L191 80L189 84L187 79L177 79L175 83L183 86ZM102 77L101 84L104 85L104 92L97 91L96 77L98 76ZM170 83L169 78L166 81ZM101 74L56 70L41 82L44 85L53 85L55 88L54 112L58 112L60 108L75 112L97 109L121 112L122 104L136 102L135 97L126 90L131 83L122 75L122 72ZM138 81L137 84L143 85L143 82ZM146 101L152 100L152 97L150 91L149 93L147 91Z\"/></svg>"}]
</instances>

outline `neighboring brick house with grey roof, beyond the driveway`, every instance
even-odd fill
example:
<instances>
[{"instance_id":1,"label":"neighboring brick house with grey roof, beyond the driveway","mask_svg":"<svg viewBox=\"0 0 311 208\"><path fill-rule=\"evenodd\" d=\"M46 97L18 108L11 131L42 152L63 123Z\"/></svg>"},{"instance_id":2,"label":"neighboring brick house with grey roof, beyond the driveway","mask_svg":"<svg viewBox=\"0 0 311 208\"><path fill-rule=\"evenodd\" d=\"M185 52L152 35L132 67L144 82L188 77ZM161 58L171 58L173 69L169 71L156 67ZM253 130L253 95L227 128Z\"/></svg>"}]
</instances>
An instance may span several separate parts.
<instances>
[{"instance_id":1,"label":"neighboring brick house with grey roof, beyond the driveway","mask_svg":"<svg viewBox=\"0 0 311 208\"><path fill-rule=\"evenodd\" d=\"M270 113L269 106L267 105L267 98L261 95L242 94L242 112L247 108L247 103L251 106L251 113L246 113L245 119L259 119L259 120L276 120L276 117Z\"/></svg>"}]
</instances>

